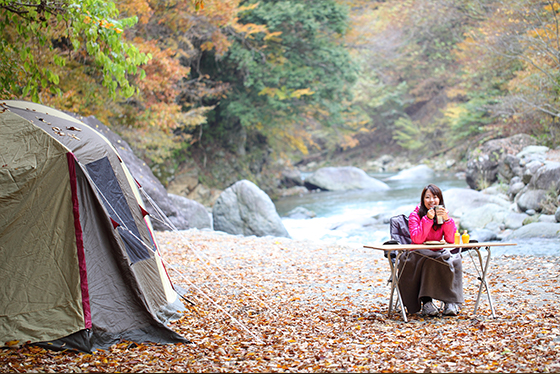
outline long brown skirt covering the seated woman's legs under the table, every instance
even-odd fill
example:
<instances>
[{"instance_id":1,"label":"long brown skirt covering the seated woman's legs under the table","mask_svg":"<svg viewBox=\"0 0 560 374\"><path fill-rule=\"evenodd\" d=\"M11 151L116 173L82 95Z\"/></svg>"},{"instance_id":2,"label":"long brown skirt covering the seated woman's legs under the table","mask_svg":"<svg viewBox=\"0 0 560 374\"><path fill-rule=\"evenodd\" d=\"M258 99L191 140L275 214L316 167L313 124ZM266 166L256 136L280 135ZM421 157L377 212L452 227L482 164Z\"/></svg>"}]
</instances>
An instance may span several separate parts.
<instances>
[{"instance_id":1,"label":"long brown skirt covering the seated woman's legs under the table","mask_svg":"<svg viewBox=\"0 0 560 374\"><path fill-rule=\"evenodd\" d=\"M418 249L399 259L399 286L408 313L421 309L420 298L462 304L463 267L461 255L447 249Z\"/></svg>"}]
</instances>

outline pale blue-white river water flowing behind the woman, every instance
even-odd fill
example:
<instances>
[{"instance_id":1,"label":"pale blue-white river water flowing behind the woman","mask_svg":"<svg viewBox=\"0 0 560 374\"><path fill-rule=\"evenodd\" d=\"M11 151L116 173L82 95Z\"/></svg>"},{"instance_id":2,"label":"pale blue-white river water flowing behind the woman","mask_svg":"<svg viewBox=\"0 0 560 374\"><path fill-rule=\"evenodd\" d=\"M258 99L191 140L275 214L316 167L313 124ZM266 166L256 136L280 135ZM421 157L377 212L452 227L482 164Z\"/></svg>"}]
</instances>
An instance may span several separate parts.
<instances>
[{"instance_id":1,"label":"pale blue-white river water flowing behind the woman","mask_svg":"<svg viewBox=\"0 0 560 374\"><path fill-rule=\"evenodd\" d=\"M464 176L436 175L428 180L386 180L394 174L370 174L387 183L386 191L350 190L314 192L290 196L275 202L284 226L294 239L324 241L361 248L367 244L382 244L389 240L387 219L393 215L409 214L420 202L424 185L434 183L445 191L468 188ZM302 175L304 178L306 174ZM310 219L286 218L296 207L316 214ZM494 255L523 254L560 256L560 238L516 239L513 247L495 247Z\"/></svg>"}]
</instances>

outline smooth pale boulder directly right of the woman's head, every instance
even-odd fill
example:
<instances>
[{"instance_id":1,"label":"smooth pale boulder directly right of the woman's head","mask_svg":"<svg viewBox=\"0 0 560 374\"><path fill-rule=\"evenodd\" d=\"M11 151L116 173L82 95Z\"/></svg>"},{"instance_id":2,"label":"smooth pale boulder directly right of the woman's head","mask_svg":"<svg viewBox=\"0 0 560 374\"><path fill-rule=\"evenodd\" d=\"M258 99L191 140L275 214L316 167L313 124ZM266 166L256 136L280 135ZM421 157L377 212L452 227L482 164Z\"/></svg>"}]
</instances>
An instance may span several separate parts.
<instances>
[{"instance_id":1,"label":"smooth pale boulder directly right of the woman's head","mask_svg":"<svg viewBox=\"0 0 560 374\"><path fill-rule=\"evenodd\" d=\"M497 195L487 195L469 188L450 188L443 191L445 207L453 217L461 218L469 211L486 204L496 204L509 209L511 202Z\"/></svg>"}]
</instances>

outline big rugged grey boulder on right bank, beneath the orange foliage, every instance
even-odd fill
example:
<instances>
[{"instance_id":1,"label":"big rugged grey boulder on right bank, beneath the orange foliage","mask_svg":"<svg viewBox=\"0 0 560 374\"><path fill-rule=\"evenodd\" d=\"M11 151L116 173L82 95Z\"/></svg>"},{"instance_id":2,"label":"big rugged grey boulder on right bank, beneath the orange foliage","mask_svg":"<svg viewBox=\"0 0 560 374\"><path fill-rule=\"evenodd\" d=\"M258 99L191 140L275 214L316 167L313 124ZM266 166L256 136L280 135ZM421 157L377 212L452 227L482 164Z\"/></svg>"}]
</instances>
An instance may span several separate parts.
<instances>
[{"instance_id":1,"label":"big rugged grey boulder on right bank, beneath the orange foliage","mask_svg":"<svg viewBox=\"0 0 560 374\"><path fill-rule=\"evenodd\" d=\"M507 155L517 155L525 147L536 141L527 134L517 134L509 138L494 139L476 148L467 161L466 181L469 187L480 190L501 179L509 182L520 172L515 159ZM504 160L506 160L504 162Z\"/></svg>"}]
</instances>

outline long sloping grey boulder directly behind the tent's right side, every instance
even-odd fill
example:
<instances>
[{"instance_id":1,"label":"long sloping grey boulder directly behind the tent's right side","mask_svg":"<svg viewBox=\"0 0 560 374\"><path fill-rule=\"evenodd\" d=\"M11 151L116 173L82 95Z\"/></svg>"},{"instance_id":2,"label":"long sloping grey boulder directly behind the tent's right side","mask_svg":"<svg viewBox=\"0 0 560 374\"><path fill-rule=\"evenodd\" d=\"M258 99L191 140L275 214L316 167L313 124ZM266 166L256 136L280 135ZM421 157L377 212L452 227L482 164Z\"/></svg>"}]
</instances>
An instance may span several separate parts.
<instances>
[{"instance_id":1,"label":"long sloping grey boulder directly behind the tent's right side","mask_svg":"<svg viewBox=\"0 0 560 374\"><path fill-rule=\"evenodd\" d=\"M79 119L102 133L116 148L134 179L136 179L138 184L140 184L141 188L148 195L148 197L142 195L142 199L144 200L146 210L152 218L154 229L161 231L170 230L171 227L166 222L167 219L169 219L178 230L188 229L188 218L183 216L182 213L175 208L163 184L154 176L152 169L150 169L144 161L134 155L128 143L94 116L79 117ZM167 218L161 216L161 213L154 207L154 204Z\"/></svg>"}]
</instances>

